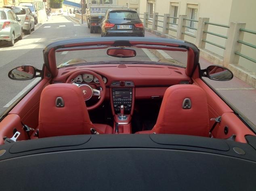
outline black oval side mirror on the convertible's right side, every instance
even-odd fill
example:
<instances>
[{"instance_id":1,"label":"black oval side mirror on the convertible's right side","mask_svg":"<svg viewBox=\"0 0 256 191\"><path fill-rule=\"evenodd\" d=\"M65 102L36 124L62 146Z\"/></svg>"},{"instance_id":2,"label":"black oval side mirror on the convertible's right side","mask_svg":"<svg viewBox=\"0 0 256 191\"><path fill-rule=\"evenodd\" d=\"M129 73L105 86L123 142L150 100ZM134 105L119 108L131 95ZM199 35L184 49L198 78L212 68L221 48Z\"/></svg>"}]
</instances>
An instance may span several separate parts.
<instances>
[{"instance_id":1,"label":"black oval side mirror on the convertible's right side","mask_svg":"<svg viewBox=\"0 0 256 191\"><path fill-rule=\"evenodd\" d=\"M206 74L203 73L203 76L211 80L228 81L233 78L233 73L223 66L208 66L205 70L202 70L202 72L206 72Z\"/></svg>"}]
</instances>

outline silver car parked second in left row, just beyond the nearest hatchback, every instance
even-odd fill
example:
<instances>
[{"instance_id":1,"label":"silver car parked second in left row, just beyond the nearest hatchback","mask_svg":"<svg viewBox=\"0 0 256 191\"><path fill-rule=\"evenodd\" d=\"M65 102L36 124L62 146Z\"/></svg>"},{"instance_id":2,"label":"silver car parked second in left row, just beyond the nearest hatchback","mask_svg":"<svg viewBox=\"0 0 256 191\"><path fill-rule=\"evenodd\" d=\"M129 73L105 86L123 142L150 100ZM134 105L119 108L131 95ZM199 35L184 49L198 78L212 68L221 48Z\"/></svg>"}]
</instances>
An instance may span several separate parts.
<instances>
[{"instance_id":1,"label":"silver car parked second in left row, just beyond the nearest hatchback","mask_svg":"<svg viewBox=\"0 0 256 191\"><path fill-rule=\"evenodd\" d=\"M4 6L13 10L21 19L23 30L29 35L35 29L35 19L31 10L26 6Z\"/></svg>"}]
</instances>

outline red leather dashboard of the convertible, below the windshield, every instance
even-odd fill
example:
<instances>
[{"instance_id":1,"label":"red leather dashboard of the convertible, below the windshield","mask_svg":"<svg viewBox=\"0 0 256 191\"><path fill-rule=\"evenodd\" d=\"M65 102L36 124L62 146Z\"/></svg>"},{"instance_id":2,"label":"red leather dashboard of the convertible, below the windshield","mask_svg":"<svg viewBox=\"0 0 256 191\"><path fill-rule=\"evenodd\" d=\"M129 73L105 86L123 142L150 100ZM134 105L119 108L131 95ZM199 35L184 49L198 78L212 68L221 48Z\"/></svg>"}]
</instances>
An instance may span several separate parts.
<instances>
[{"instance_id":1,"label":"red leather dashboard of the convertible, below the windshield","mask_svg":"<svg viewBox=\"0 0 256 191\"><path fill-rule=\"evenodd\" d=\"M91 70L107 78L106 86L110 87L112 81L129 80L135 85L135 99L148 99L151 96L164 95L170 85L180 82L191 82L185 74L185 68L153 64L99 64L88 66L74 66L60 68L55 82L65 82L66 79L78 70ZM107 95L107 97L109 97Z\"/></svg>"}]
</instances>

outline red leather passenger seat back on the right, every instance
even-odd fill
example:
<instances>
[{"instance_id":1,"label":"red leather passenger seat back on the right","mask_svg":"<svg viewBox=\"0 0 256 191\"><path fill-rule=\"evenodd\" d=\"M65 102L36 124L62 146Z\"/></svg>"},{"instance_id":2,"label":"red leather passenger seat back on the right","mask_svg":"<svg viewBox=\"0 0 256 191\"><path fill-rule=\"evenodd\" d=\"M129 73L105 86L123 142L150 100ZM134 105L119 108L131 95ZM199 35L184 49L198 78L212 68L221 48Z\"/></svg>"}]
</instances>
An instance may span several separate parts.
<instances>
[{"instance_id":1,"label":"red leather passenger seat back on the right","mask_svg":"<svg viewBox=\"0 0 256 191\"><path fill-rule=\"evenodd\" d=\"M189 105L191 108L184 108ZM185 100L186 99L186 100ZM171 133L209 137L209 116L206 93L199 86L180 84L167 88L157 122L150 131L145 133Z\"/></svg>"}]
</instances>

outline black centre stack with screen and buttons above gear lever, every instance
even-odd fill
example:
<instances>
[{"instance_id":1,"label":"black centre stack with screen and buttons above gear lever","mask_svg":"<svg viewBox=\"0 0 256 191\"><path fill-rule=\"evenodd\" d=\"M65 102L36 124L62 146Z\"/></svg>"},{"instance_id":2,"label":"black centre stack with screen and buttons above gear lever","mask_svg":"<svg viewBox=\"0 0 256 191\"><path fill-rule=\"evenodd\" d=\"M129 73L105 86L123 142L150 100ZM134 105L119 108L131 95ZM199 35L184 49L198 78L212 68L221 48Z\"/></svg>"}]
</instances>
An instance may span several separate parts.
<instances>
[{"instance_id":1,"label":"black centre stack with screen and buttons above gear lever","mask_svg":"<svg viewBox=\"0 0 256 191\"><path fill-rule=\"evenodd\" d=\"M112 100L113 100L114 113L119 114L121 105L123 105L124 114L130 114L132 111L132 99L133 99L132 88L113 88Z\"/></svg>"}]
</instances>

